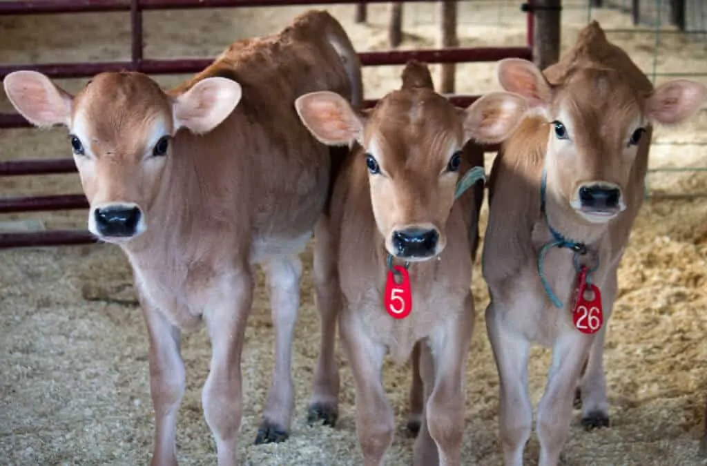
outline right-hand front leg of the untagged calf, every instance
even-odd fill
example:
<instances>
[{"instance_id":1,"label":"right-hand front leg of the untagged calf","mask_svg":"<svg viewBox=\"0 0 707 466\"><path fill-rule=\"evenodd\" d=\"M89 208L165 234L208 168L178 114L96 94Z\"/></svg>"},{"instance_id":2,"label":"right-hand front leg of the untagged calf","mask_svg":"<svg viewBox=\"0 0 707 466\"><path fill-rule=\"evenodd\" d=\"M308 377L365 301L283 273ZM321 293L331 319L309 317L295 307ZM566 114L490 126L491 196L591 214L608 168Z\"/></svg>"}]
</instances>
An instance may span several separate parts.
<instances>
[{"instance_id":1,"label":"right-hand front leg of the untagged calf","mask_svg":"<svg viewBox=\"0 0 707 466\"><path fill-rule=\"evenodd\" d=\"M238 464L238 431L243 413L240 357L252 303L253 279L245 265L209 289L204 320L211 337L211 366L201 402L216 441L218 466Z\"/></svg>"}]
</instances>

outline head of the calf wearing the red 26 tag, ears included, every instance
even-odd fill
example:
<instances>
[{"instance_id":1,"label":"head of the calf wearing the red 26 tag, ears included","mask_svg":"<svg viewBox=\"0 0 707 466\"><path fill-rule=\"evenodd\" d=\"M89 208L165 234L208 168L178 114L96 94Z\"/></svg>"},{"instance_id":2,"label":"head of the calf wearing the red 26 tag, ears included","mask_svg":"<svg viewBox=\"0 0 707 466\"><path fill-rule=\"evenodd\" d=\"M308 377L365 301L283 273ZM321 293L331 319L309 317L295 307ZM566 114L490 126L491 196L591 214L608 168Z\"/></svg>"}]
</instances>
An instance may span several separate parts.
<instances>
[{"instance_id":1,"label":"head of the calf wearing the red 26 tag, ears included","mask_svg":"<svg viewBox=\"0 0 707 466\"><path fill-rule=\"evenodd\" d=\"M544 74L526 60L505 59L498 78L549 122L548 189L578 220L593 224L626 209L631 169L637 158L648 156L653 124L684 122L707 95L705 86L684 79L654 89L595 21Z\"/></svg>"}]
</instances>

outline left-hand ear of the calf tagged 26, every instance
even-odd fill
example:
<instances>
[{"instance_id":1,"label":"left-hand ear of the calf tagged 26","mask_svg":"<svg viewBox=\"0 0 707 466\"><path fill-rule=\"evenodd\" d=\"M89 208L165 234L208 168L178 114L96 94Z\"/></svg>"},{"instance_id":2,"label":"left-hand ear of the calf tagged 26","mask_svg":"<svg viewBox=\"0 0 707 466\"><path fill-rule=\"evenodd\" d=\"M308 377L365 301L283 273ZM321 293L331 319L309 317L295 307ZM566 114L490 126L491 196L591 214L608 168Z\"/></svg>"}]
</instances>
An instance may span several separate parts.
<instances>
[{"instance_id":1,"label":"left-hand ear of the calf tagged 26","mask_svg":"<svg viewBox=\"0 0 707 466\"><path fill-rule=\"evenodd\" d=\"M552 88L535 64L520 58L498 62L498 83L505 91L522 95L531 107L546 108L552 97Z\"/></svg>"}]
</instances>

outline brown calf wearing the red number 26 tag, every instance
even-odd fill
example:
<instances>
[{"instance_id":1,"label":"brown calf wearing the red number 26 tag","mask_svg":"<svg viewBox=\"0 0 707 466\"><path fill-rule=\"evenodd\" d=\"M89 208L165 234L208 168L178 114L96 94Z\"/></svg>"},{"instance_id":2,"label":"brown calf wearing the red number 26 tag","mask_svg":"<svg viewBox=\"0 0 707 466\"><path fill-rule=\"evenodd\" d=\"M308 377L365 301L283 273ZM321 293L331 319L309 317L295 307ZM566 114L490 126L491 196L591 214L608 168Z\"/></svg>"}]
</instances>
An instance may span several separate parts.
<instances>
[{"instance_id":1,"label":"brown calf wearing the red number 26 tag","mask_svg":"<svg viewBox=\"0 0 707 466\"><path fill-rule=\"evenodd\" d=\"M501 440L506 465L522 465L532 424L530 345L550 346L537 412L539 465L550 466L568 436L578 382L583 424L609 424L604 334L617 267L643 202L652 125L683 122L707 89L685 80L654 89L596 22L544 74L530 62L508 59L498 76L503 88L538 110L503 144L489 180L483 273L491 293L486 325L501 381ZM600 295L575 293L585 284Z\"/></svg>"}]
</instances>

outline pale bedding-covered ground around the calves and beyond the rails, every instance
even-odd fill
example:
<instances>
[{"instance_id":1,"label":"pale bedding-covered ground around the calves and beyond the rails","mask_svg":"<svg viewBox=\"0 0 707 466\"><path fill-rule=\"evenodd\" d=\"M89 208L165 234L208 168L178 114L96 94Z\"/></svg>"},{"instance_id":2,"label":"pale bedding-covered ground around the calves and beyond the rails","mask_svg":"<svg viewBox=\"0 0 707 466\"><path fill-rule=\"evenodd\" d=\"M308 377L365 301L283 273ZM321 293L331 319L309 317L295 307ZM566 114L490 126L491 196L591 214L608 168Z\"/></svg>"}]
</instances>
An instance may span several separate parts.
<instances>
[{"instance_id":1,"label":"pale bedding-covered ground around the calves and beyond the rails","mask_svg":"<svg viewBox=\"0 0 707 466\"><path fill-rule=\"evenodd\" d=\"M330 7L358 49L387 48L387 6L371 7L366 25L352 22L353 8ZM409 5L403 47L432 47L434 7ZM159 12L146 15L146 56L214 56L239 37L278 30L304 8ZM629 28L630 19L596 10L605 28ZM563 13L563 43L587 21L585 9ZM485 25L481 23L485 22ZM522 45L523 18L514 2L464 3L462 45ZM614 33L645 70L653 67L653 35ZM129 23L124 14L64 15L0 20L0 62L62 62L126 59ZM659 71L707 71L707 47L676 35L661 35ZM378 97L399 86L399 66L366 69L366 95ZM160 78L165 86L180 77ZM660 81L660 80L659 80ZM69 90L83 81L62 81ZM457 91L497 88L493 65L459 67ZM8 111L0 97L0 110ZM706 165L707 112L657 140L652 166ZM0 160L69 156L64 130L0 132ZM491 157L489 156L489 165ZM653 192L701 194L703 173L650 176ZM76 175L0 179L0 192L78 192ZM486 206L482 228L486 225ZM85 212L42 213L47 228L82 228ZM25 216L5 216L0 220ZM700 197L650 199L636 221L619 274L619 298L609 324L606 370L612 427L585 432L575 412L566 445L568 465L697 465L707 375L707 202ZM259 276L257 299L247 327L243 374L245 412L242 458L250 465L354 465L360 454L354 433L354 390L348 364L339 354L341 417L336 429L305 424L305 404L317 356L319 324L313 306L310 265L305 256L302 305L296 327L293 371L296 412L291 438L279 445L252 445L270 381L274 351L267 294ZM117 247L92 245L0 252L0 459L6 465L145 464L152 445L153 414L148 385L147 339L134 301L131 273ZM467 366L465 464L501 464L498 442L498 377L485 334L488 303L480 270L472 282L477 327ZM187 394L178 424L179 458L186 465L211 465L214 443L201 415L200 389L210 350L203 330L187 334L182 355ZM548 353L534 349L530 387L537 403L547 374ZM411 462L404 434L409 368L385 366L385 387L397 414L398 435L389 465ZM525 458L537 464L537 440Z\"/></svg>"}]
</instances>

